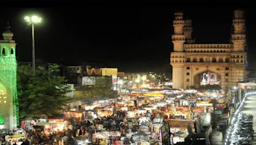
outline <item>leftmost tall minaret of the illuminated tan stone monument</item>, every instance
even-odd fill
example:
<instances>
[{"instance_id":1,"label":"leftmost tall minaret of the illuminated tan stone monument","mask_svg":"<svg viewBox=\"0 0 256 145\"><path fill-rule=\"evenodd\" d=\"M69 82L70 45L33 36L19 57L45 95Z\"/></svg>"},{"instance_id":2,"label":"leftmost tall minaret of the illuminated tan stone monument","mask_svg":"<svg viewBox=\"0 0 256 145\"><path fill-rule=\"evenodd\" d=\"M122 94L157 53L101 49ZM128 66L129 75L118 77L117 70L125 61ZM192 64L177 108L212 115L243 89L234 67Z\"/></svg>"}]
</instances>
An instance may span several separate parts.
<instances>
[{"instance_id":1,"label":"leftmost tall minaret of the illuminated tan stone monument","mask_svg":"<svg viewBox=\"0 0 256 145\"><path fill-rule=\"evenodd\" d=\"M172 35L173 52L171 53L173 88L184 88L185 53L184 53L183 45L185 43L185 36L184 36L184 20L183 20L182 12L178 11L174 13L173 27L174 27L174 34Z\"/></svg>"}]
</instances>

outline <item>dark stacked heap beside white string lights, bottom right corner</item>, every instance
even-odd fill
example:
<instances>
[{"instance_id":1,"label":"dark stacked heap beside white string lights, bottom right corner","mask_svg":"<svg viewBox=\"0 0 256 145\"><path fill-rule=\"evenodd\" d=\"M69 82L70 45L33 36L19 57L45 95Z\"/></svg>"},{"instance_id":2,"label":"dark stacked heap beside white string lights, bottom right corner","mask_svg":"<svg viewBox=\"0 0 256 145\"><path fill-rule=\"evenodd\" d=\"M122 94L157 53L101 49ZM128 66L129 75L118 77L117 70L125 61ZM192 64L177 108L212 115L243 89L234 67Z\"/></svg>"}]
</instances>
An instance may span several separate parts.
<instances>
[{"instance_id":1,"label":"dark stacked heap beside white string lights, bottom right corner","mask_svg":"<svg viewBox=\"0 0 256 145\"><path fill-rule=\"evenodd\" d=\"M253 116L239 113L232 132L232 144L253 144Z\"/></svg>"}]
</instances>

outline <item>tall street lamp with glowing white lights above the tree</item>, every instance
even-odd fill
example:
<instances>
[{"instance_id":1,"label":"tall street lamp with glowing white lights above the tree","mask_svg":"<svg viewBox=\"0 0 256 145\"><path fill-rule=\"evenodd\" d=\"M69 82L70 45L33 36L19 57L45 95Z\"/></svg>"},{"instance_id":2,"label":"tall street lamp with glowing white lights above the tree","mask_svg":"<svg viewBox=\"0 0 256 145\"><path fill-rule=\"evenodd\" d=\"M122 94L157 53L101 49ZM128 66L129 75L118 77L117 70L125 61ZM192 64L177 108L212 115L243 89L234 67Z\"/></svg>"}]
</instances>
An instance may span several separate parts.
<instances>
[{"instance_id":1,"label":"tall street lamp with glowing white lights above the tree","mask_svg":"<svg viewBox=\"0 0 256 145\"><path fill-rule=\"evenodd\" d=\"M24 17L24 20L27 22L28 25L32 25L32 68L33 71L35 71L36 69L36 62L35 62L35 32L34 32L34 24L40 23L42 18L37 17L35 15L33 15L32 17Z\"/></svg>"}]
</instances>

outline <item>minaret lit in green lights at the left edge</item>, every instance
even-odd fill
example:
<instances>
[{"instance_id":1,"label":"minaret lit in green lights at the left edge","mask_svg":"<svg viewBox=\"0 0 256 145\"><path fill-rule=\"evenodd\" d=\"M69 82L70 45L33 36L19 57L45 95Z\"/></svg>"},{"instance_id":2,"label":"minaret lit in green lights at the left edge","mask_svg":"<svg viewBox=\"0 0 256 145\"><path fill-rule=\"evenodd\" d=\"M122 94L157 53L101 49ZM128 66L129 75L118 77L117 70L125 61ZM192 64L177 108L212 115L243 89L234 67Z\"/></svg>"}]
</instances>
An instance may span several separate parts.
<instances>
[{"instance_id":1,"label":"minaret lit in green lights at the left edge","mask_svg":"<svg viewBox=\"0 0 256 145\"><path fill-rule=\"evenodd\" d=\"M19 122L16 43L12 38L8 25L0 40L0 128L8 130L17 127Z\"/></svg>"}]
</instances>

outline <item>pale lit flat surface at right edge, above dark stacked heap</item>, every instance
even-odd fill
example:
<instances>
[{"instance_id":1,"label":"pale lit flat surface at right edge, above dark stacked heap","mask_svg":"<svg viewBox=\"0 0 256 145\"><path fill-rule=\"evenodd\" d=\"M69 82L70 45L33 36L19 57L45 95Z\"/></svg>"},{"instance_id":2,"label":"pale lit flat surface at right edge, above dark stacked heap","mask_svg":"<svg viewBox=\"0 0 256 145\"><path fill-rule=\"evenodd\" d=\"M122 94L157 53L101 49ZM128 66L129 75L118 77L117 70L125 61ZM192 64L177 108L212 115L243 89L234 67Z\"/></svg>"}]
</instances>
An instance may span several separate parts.
<instances>
[{"instance_id":1,"label":"pale lit flat surface at right edge, above dark stacked heap","mask_svg":"<svg viewBox=\"0 0 256 145\"><path fill-rule=\"evenodd\" d=\"M254 130L254 141L253 144L256 144L256 95L251 95L246 97L243 107L241 109L242 113L252 114L253 115L253 130Z\"/></svg>"}]
</instances>

